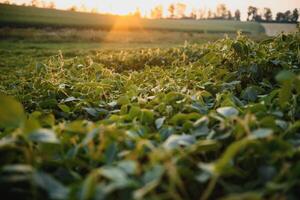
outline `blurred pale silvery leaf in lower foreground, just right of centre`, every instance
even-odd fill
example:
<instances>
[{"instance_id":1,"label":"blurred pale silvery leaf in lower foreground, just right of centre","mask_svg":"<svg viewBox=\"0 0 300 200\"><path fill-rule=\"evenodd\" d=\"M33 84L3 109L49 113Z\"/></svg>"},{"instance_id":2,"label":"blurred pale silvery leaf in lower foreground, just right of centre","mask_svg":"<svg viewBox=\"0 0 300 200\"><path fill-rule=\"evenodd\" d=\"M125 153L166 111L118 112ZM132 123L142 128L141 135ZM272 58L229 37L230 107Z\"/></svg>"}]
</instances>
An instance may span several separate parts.
<instances>
[{"instance_id":1,"label":"blurred pale silvery leaf in lower foreground, just right of centre","mask_svg":"<svg viewBox=\"0 0 300 200\"><path fill-rule=\"evenodd\" d=\"M191 135L171 135L163 144L165 149L171 150L178 147L187 147L196 142L194 136Z\"/></svg>"}]
</instances>

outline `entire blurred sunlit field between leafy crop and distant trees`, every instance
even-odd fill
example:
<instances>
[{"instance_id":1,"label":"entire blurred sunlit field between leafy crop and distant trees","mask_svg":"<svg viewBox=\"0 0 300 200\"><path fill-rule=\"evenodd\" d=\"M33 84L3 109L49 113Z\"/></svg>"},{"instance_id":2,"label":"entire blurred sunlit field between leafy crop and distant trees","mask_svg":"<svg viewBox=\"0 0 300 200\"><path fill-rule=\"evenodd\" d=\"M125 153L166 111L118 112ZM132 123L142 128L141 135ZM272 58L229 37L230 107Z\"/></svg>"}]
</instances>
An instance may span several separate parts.
<instances>
[{"instance_id":1,"label":"entire blurred sunlit field between leafy crop and distant trees","mask_svg":"<svg viewBox=\"0 0 300 200\"><path fill-rule=\"evenodd\" d=\"M146 19L0 4L0 66L24 66L62 50L66 56L99 49L172 48L203 44L240 31L262 41L296 24L239 20ZM16 61L15 57L22 59Z\"/></svg>"}]
</instances>

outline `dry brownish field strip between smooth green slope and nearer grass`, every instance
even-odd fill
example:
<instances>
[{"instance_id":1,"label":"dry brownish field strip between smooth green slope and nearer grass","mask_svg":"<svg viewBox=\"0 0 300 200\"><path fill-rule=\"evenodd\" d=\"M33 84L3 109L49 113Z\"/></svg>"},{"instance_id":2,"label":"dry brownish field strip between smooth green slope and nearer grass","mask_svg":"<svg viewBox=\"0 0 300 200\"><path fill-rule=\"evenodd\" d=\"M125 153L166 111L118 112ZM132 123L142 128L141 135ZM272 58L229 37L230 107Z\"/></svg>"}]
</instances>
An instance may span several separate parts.
<instances>
[{"instance_id":1,"label":"dry brownish field strip between smooth green slope and nearer grass","mask_svg":"<svg viewBox=\"0 0 300 200\"><path fill-rule=\"evenodd\" d=\"M183 44L215 41L225 34L205 34L170 31L106 31L74 28L0 28L0 41L24 41L34 43L119 43L119 44ZM227 34L235 37L236 34ZM252 36L255 39L265 38L263 35Z\"/></svg>"}]
</instances>

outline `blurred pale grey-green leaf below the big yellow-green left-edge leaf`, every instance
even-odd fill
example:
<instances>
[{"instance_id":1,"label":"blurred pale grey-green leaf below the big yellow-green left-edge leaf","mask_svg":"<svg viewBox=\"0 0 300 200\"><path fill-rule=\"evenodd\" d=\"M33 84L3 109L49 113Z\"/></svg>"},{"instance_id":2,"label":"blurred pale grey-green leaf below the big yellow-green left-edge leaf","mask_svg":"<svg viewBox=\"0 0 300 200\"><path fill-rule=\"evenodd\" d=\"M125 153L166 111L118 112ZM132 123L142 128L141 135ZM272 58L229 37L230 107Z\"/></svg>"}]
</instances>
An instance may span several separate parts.
<instances>
[{"instance_id":1,"label":"blurred pale grey-green leaf below the big yellow-green left-edge leaf","mask_svg":"<svg viewBox=\"0 0 300 200\"><path fill-rule=\"evenodd\" d=\"M56 134L49 129L38 129L28 136L28 139L40 143L58 144L60 141L57 139Z\"/></svg>"}]
</instances>

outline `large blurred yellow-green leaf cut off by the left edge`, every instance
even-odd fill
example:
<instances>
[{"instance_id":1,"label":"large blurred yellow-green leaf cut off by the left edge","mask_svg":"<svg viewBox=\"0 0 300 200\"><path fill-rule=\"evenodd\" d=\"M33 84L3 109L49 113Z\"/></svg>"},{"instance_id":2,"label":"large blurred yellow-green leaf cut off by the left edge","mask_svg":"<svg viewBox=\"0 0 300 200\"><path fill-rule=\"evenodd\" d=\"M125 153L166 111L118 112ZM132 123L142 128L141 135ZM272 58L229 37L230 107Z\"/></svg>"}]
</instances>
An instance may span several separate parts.
<instances>
[{"instance_id":1,"label":"large blurred yellow-green leaf cut off by the left edge","mask_svg":"<svg viewBox=\"0 0 300 200\"><path fill-rule=\"evenodd\" d=\"M24 122L23 106L12 97L0 95L0 128L17 128Z\"/></svg>"}]
</instances>

